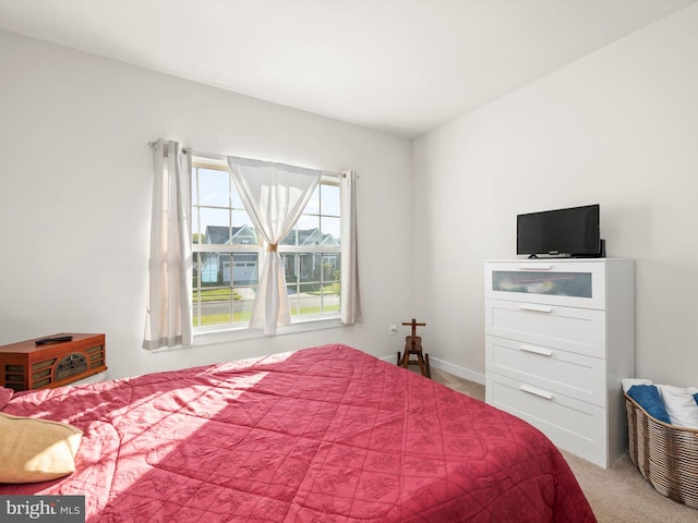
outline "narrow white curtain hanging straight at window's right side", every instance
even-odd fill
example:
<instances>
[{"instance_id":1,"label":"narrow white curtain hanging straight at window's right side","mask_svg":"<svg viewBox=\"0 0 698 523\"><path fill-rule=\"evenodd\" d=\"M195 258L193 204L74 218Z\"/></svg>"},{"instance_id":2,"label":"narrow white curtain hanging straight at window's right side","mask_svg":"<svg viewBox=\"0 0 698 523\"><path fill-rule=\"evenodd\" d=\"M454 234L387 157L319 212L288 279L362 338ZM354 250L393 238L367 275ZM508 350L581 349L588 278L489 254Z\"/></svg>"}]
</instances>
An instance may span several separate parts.
<instances>
[{"instance_id":1,"label":"narrow white curtain hanging straight at window's right side","mask_svg":"<svg viewBox=\"0 0 698 523\"><path fill-rule=\"evenodd\" d=\"M359 292L357 248L357 173L346 171L340 183L341 206L341 323L353 325L363 319Z\"/></svg>"}]
</instances>

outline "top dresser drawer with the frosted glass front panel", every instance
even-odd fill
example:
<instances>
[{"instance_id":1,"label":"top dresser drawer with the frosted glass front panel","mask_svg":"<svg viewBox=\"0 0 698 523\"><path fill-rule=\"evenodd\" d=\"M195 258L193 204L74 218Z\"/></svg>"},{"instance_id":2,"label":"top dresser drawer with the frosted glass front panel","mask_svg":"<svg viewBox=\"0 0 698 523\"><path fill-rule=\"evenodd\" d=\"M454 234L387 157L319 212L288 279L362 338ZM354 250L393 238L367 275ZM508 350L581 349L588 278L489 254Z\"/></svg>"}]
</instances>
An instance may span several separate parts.
<instances>
[{"instance_id":1,"label":"top dresser drawer with the frosted glass front panel","mask_svg":"<svg viewBox=\"0 0 698 523\"><path fill-rule=\"evenodd\" d=\"M485 297L605 308L605 263L521 259L485 264Z\"/></svg>"}]
</instances>

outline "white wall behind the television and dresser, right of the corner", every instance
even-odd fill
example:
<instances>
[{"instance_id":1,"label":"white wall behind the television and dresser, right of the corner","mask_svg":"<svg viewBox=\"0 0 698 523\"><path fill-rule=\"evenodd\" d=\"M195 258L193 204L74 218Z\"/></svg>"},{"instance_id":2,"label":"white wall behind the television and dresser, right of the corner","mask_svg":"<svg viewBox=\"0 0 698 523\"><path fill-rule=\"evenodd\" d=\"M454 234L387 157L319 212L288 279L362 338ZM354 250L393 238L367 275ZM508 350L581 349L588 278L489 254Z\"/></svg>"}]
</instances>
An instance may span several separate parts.
<instances>
[{"instance_id":1,"label":"white wall behind the television and dresser, right of the corner","mask_svg":"<svg viewBox=\"0 0 698 523\"><path fill-rule=\"evenodd\" d=\"M601 204L636 259L636 369L698 385L698 7L414 142L418 314L434 355L484 372L483 262L516 215Z\"/></svg>"}]
</instances>

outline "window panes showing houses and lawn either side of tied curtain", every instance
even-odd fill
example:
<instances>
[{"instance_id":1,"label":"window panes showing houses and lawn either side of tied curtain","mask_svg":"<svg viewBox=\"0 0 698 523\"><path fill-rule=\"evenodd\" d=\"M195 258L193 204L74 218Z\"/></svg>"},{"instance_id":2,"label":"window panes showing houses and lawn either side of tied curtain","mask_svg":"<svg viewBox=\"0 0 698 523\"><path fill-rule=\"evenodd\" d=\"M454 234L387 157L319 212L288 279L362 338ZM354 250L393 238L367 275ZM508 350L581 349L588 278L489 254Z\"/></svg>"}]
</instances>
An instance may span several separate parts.
<instances>
[{"instance_id":1,"label":"window panes showing houses and lawn either side of tied curtain","mask_svg":"<svg viewBox=\"0 0 698 523\"><path fill-rule=\"evenodd\" d=\"M293 321L339 317L339 183L322 180L278 245ZM244 328L262 265L260 239L222 161L192 167L193 326Z\"/></svg>"}]
</instances>

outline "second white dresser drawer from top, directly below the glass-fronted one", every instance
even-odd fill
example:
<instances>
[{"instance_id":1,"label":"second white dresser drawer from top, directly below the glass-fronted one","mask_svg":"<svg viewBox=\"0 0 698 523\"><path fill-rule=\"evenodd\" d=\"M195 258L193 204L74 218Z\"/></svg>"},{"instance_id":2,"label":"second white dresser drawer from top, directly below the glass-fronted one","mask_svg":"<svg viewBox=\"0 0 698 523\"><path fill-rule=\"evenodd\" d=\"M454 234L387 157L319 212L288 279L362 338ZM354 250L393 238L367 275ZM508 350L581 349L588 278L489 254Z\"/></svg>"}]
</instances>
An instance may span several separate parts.
<instances>
[{"instance_id":1,"label":"second white dresser drawer from top, directly below the glass-fronted one","mask_svg":"<svg viewBox=\"0 0 698 523\"><path fill-rule=\"evenodd\" d=\"M590 308L485 300L485 333L605 358L605 314Z\"/></svg>"}]
</instances>

